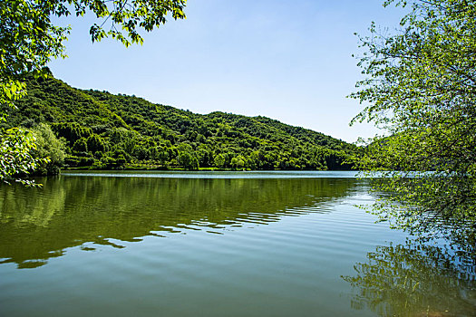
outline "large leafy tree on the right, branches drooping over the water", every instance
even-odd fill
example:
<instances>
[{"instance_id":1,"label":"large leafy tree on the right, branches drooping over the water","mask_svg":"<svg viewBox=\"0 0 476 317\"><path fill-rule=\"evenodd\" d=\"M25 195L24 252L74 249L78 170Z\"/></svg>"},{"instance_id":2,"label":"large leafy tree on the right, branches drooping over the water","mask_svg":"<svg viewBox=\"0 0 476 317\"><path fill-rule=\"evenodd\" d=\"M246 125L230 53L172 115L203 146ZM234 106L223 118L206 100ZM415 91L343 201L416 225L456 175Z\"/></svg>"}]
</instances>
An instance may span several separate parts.
<instances>
[{"instance_id":1,"label":"large leafy tree on the right, branches drooping over the water","mask_svg":"<svg viewBox=\"0 0 476 317\"><path fill-rule=\"evenodd\" d=\"M410 7L395 34L374 24L361 38L365 79L351 97L368 102L354 121L384 129L356 158L383 220L411 233L451 236L474 252L476 233L476 2L389 0ZM384 177L382 177L384 176Z\"/></svg>"}]
</instances>

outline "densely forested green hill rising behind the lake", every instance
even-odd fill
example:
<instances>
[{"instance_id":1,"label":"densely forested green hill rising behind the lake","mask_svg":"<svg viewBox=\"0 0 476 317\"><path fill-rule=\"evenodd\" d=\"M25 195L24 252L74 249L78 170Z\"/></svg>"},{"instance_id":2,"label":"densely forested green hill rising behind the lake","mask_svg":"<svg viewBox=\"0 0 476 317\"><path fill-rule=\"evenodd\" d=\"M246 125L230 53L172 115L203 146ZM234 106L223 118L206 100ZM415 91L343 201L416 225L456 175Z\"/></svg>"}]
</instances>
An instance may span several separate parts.
<instances>
[{"instance_id":1,"label":"densely forested green hill rising behind the lake","mask_svg":"<svg viewBox=\"0 0 476 317\"><path fill-rule=\"evenodd\" d=\"M340 139L266 117L197 114L75 89L52 74L26 83L27 96L3 125L37 131L45 138L40 147L63 147L65 155L51 163L56 167L348 169L343 162L355 151Z\"/></svg>"}]
</instances>

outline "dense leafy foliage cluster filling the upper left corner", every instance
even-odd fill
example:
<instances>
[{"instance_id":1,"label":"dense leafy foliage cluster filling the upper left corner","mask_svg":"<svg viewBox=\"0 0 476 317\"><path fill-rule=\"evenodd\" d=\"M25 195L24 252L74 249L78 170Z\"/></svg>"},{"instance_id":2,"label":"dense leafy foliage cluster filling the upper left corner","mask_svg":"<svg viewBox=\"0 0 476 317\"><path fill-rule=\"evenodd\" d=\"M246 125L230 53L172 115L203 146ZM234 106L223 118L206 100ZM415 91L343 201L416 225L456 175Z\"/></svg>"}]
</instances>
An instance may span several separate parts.
<instances>
[{"instance_id":1,"label":"dense leafy foliage cluster filling the upper left corner","mask_svg":"<svg viewBox=\"0 0 476 317\"><path fill-rule=\"evenodd\" d=\"M47 1L11 0L0 3L0 105L24 95L25 72L40 74L52 57L63 56L67 28L51 23L54 5Z\"/></svg>"}]
</instances>

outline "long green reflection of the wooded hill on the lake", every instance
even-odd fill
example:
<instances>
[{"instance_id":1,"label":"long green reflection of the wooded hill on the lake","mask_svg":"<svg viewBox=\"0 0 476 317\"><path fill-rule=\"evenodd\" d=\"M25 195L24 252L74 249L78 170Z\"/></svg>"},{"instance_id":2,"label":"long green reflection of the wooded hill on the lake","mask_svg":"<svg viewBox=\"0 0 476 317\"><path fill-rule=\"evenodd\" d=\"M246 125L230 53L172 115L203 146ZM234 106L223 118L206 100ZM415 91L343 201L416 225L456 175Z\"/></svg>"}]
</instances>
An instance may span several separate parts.
<instances>
[{"instance_id":1,"label":"long green reflection of the wooded hill on the lake","mask_svg":"<svg viewBox=\"0 0 476 317\"><path fill-rule=\"evenodd\" d=\"M4 262L40 265L41 260L84 242L134 241L151 231L184 226L217 231L224 225L273 222L344 197L355 179L63 176L42 182L43 189L0 187Z\"/></svg>"}]
</instances>

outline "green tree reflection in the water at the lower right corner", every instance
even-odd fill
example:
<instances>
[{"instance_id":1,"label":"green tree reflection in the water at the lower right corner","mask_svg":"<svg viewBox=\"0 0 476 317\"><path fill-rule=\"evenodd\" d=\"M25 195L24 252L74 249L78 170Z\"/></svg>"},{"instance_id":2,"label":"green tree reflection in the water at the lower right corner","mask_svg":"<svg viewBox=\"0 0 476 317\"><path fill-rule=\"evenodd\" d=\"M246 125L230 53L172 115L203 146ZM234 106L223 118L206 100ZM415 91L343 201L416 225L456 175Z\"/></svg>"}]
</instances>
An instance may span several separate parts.
<instances>
[{"instance_id":1,"label":"green tree reflection in the water at the lower right corner","mask_svg":"<svg viewBox=\"0 0 476 317\"><path fill-rule=\"evenodd\" d=\"M344 276L356 288L351 305L381 316L472 316L476 271L450 250L408 242L378 246ZM471 261L471 260L470 260Z\"/></svg>"}]
</instances>

